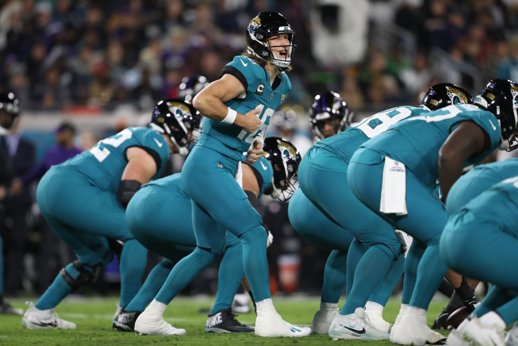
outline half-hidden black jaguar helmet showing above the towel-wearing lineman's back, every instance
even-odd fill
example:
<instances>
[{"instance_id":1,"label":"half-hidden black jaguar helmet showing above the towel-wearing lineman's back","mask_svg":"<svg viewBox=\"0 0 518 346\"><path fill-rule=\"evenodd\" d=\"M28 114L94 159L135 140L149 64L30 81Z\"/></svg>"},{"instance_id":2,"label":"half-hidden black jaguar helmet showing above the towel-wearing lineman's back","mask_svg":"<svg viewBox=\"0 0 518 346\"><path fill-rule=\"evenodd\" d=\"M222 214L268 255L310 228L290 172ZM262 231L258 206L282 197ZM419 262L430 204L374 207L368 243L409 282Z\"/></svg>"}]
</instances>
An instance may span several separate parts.
<instances>
[{"instance_id":1,"label":"half-hidden black jaguar helmet showing above the towel-wearing lineman's back","mask_svg":"<svg viewBox=\"0 0 518 346\"><path fill-rule=\"evenodd\" d=\"M473 98L464 88L451 83L439 83L431 86L424 94L421 107L433 111L452 104L472 102Z\"/></svg>"}]
</instances>

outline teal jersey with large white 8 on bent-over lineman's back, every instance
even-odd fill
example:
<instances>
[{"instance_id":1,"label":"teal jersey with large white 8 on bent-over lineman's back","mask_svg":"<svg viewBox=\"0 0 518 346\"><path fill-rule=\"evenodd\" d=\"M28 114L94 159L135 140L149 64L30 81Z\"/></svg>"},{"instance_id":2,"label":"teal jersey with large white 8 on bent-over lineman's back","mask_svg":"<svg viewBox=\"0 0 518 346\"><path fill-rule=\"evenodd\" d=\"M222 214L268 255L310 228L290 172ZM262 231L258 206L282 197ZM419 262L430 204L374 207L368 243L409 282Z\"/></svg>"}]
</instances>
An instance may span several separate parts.
<instances>
[{"instance_id":1,"label":"teal jersey with large white 8 on bent-over lineman's back","mask_svg":"<svg viewBox=\"0 0 518 346\"><path fill-rule=\"evenodd\" d=\"M428 113L430 113L430 111L424 108L399 106L371 115L363 119L356 126L348 127L345 131L313 144L313 147L323 148L325 150L318 151L318 160L314 160L311 157L310 151L308 153L309 164L327 171L342 172L344 170L343 164L333 167L333 165L337 165L336 160L326 160L325 156L331 155L338 157L348 164L354 151L368 139L385 132L398 121ZM326 151L328 151L328 153L326 153ZM347 169L347 167L345 169Z\"/></svg>"}]
</instances>

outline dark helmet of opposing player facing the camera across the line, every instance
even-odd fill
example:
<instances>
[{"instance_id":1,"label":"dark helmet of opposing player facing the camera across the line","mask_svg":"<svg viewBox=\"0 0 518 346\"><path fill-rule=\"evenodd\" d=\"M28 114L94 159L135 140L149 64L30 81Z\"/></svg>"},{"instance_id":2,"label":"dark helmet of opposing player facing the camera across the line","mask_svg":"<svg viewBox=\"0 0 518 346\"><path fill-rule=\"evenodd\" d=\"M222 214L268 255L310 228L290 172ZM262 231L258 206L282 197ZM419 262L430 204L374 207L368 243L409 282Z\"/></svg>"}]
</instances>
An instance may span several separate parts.
<instances>
[{"instance_id":1,"label":"dark helmet of opposing player facing the camera across the line","mask_svg":"<svg viewBox=\"0 0 518 346\"><path fill-rule=\"evenodd\" d=\"M323 140L326 137L323 133L326 123L333 127L335 134L338 134L351 124L352 117L353 113L349 112L347 103L342 100L340 94L334 91L327 91L323 94L315 95L311 105L309 122L313 127L315 135ZM338 121L329 122L332 119L337 119Z\"/></svg>"}]
</instances>

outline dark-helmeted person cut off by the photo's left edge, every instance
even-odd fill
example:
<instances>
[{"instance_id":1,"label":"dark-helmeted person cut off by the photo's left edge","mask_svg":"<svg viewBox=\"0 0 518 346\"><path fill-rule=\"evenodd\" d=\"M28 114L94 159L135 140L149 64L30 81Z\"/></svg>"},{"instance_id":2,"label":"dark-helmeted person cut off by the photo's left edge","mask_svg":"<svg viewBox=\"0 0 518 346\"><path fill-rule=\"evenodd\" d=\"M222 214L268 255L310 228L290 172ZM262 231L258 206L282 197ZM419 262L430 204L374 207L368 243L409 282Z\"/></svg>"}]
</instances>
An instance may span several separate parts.
<instances>
[{"instance_id":1,"label":"dark-helmeted person cut off by the photo's left edge","mask_svg":"<svg viewBox=\"0 0 518 346\"><path fill-rule=\"evenodd\" d=\"M14 172L11 167L8 148L3 135L16 125L19 119L20 106L12 92L0 92L0 213L3 213L2 200L7 196L8 187ZM3 220L0 215L0 220ZM4 256L2 252L2 237L0 237L0 313L21 315L23 310L12 307L4 301Z\"/></svg>"}]
</instances>

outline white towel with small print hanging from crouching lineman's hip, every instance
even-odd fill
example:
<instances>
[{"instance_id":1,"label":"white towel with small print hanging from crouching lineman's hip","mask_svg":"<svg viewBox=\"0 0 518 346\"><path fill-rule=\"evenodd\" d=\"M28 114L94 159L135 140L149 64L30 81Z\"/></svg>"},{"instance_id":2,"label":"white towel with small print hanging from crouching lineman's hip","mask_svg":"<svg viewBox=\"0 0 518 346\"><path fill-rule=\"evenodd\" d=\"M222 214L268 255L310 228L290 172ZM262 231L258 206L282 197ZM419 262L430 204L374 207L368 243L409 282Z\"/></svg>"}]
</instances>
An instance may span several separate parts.
<instances>
[{"instance_id":1,"label":"white towel with small print hanging from crouching lineman's hip","mask_svg":"<svg viewBox=\"0 0 518 346\"><path fill-rule=\"evenodd\" d=\"M407 215L405 164L385 156L380 212Z\"/></svg>"}]
</instances>

